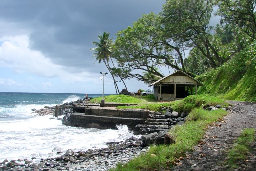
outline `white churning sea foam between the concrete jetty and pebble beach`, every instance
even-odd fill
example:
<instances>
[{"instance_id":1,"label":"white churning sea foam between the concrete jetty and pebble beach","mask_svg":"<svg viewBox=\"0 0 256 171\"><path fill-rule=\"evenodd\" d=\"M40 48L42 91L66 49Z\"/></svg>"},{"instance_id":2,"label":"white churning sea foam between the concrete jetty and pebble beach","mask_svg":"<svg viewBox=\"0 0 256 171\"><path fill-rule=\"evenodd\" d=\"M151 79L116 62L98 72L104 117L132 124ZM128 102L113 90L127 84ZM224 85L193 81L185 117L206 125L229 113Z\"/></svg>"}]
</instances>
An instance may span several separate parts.
<instances>
[{"instance_id":1,"label":"white churning sea foam between the concrete jetty and pebble beach","mask_svg":"<svg viewBox=\"0 0 256 171\"><path fill-rule=\"evenodd\" d=\"M0 121L0 161L8 159L48 158L57 156L57 151L65 153L106 147L106 142L121 141L134 136L127 126L120 125L118 130L87 129L70 127L60 120L49 119L53 116L34 116L31 109L41 109L45 105L16 105L5 108L12 112L12 120ZM22 117L22 119L18 119ZM17 118L17 119L15 119Z\"/></svg>"}]
</instances>

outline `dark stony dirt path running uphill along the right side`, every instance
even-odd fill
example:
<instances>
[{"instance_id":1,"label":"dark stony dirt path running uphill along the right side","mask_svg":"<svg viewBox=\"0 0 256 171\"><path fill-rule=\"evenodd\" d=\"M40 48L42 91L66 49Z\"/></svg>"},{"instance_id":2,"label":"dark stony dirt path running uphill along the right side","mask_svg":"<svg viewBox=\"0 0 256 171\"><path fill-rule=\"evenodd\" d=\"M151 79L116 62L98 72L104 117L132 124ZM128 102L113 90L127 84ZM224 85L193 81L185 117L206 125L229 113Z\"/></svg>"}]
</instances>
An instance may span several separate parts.
<instances>
[{"instance_id":1,"label":"dark stony dirt path running uphill along the right side","mask_svg":"<svg viewBox=\"0 0 256 171\"><path fill-rule=\"evenodd\" d=\"M256 171L256 143L248 156L248 162L238 162L238 169L225 166L226 150L234 143L243 128L256 128L256 103L228 101L233 105L224 120L210 126L204 134L203 141L188 153L182 164L173 171ZM221 125L220 125L221 124Z\"/></svg>"}]
</instances>

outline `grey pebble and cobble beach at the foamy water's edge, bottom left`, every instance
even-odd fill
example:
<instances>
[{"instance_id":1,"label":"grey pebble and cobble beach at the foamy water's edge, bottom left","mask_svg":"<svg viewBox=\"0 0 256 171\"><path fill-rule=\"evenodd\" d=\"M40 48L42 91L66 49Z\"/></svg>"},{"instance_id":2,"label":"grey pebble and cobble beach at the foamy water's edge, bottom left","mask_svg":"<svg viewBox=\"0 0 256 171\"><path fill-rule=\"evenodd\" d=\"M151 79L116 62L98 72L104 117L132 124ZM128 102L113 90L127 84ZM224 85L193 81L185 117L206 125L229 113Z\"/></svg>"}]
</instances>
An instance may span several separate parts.
<instances>
[{"instance_id":1,"label":"grey pebble and cobble beach at the foamy water's edge, bottom left","mask_svg":"<svg viewBox=\"0 0 256 171\"><path fill-rule=\"evenodd\" d=\"M15 161L4 161L0 164L2 170L19 171L55 171L55 170L109 170L116 167L116 164L126 163L135 156L145 153L148 147L141 147L142 139L130 137L124 142L108 143L107 148L89 149L77 151L69 149L65 155L55 158L41 159L39 163L19 164Z\"/></svg>"}]
</instances>

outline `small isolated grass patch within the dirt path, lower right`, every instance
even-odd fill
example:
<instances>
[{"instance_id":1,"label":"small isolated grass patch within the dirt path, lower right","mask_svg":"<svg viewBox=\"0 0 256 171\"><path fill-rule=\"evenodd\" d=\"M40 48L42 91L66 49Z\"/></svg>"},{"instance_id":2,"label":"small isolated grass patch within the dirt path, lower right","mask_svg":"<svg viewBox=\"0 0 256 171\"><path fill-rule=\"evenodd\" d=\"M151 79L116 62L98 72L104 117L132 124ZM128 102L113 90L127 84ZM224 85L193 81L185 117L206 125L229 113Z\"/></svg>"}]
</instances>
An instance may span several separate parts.
<instances>
[{"instance_id":1,"label":"small isolated grass patch within the dirt path, lower right","mask_svg":"<svg viewBox=\"0 0 256 171\"><path fill-rule=\"evenodd\" d=\"M237 168L237 161L245 161L246 156L250 152L251 143L255 141L254 138L255 129L246 128L241 132L236 142L232 145L231 149L228 150L226 163L230 167Z\"/></svg>"}]
</instances>

